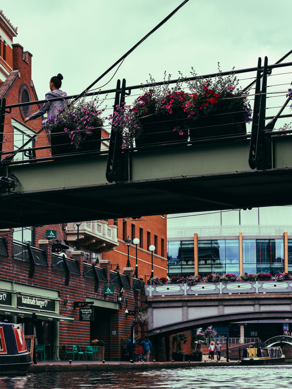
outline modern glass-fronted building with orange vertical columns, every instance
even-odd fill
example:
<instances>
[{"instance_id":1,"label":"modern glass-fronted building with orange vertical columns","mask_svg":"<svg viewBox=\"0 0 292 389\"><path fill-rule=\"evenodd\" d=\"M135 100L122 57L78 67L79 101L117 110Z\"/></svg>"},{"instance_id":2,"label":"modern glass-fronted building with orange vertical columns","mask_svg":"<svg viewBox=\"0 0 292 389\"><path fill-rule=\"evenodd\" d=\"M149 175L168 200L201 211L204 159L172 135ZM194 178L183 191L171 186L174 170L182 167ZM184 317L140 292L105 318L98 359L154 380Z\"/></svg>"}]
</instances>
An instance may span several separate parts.
<instances>
[{"instance_id":1,"label":"modern glass-fronted building with orange vertical columns","mask_svg":"<svg viewBox=\"0 0 292 389\"><path fill-rule=\"evenodd\" d=\"M171 216L170 277L212 272L292 272L292 207L198 213L175 217L173 221ZM260 224L261 220L266 224ZM278 224L280 221L283 224Z\"/></svg>"}]
</instances>

